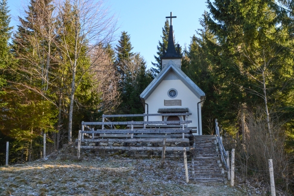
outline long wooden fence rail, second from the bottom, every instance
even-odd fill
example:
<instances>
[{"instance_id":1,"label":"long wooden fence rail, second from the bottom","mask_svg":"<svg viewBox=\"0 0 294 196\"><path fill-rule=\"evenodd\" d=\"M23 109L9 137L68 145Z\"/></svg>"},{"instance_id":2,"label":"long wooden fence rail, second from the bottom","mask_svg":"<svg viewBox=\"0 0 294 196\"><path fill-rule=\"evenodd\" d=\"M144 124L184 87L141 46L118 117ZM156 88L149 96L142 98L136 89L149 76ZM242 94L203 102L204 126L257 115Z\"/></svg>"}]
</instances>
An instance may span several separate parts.
<instances>
[{"instance_id":1,"label":"long wooden fence rail, second from the bottom","mask_svg":"<svg viewBox=\"0 0 294 196\"><path fill-rule=\"evenodd\" d=\"M75 140L76 142L78 142L78 139ZM176 142L180 142L180 143L189 143L189 139L185 138L167 138L166 142L167 143L176 143ZM151 143L162 143L162 139L160 138L134 138L134 139L81 139L81 142L114 142L114 143L123 143L123 142L137 142L137 143L147 143L147 142L151 142Z\"/></svg>"}]
</instances>

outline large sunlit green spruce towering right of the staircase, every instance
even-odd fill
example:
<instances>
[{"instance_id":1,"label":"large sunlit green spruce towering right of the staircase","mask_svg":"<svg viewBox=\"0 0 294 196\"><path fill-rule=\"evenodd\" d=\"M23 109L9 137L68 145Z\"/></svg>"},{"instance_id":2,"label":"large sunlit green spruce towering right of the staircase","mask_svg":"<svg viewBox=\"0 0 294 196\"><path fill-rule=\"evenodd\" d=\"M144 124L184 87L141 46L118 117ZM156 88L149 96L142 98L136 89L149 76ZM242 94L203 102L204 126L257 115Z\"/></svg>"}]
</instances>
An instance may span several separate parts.
<instances>
[{"instance_id":1,"label":"large sunlit green spruce towering right of the staircase","mask_svg":"<svg viewBox=\"0 0 294 196\"><path fill-rule=\"evenodd\" d=\"M207 2L210 14L204 16L204 22L217 40L212 42L206 39L206 42L213 64L215 87L219 92L216 94L222 114L219 118L225 117L222 120L228 124L238 124L238 114L242 108L252 110L256 104L267 105L262 90L264 87L257 81L262 75L256 70L257 61L268 62L271 68L275 68L275 71L268 70L267 73L267 91L270 95L275 95L271 96L268 104L274 106L277 99L283 100L276 96L281 95L278 93L281 86L283 92L286 92L286 83L281 81L289 82L285 72L283 73L283 70L290 68L289 62L292 62L287 49L292 45L290 36L287 35L289 29L284 25L279 26L282 21L269 1ZM259 60L255 59L257 61L253 62L253 58L257 56ZM288 85L288 90L289 87ZM235 129L232 126L231 128Z\"/></svg>"}]
</instances>

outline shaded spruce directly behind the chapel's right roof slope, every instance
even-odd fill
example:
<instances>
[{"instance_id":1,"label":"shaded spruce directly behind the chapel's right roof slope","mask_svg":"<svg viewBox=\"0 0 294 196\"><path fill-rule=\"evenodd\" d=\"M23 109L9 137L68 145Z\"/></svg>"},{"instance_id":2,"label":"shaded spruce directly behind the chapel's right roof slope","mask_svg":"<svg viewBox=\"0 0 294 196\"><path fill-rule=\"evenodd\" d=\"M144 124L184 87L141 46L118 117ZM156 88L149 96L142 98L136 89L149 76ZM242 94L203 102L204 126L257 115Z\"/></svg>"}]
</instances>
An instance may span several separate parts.
<instances>
[{"instance_id":1,"label":"shaded spruce directly behind the chapel's right roof slope","mask_svg":"<svg viewBox=\"0 0 294 196\"><path fill-rule=\"evenodd\" d=\"M203 16L207 15L205 12ZM186 73L203 92L205 92L205 102L202 107L202 133L214 133L214 117L218 114L216 107L217 100L214 97L214 78L212 77L212 67L209 60L209 50L206 39L216 43L214 35L209 31L203 19L200 19L202 29L198 29L197 36L191 38L188 49L184 50L182 61L182 71Z\"/></svg>"}]
</instances>

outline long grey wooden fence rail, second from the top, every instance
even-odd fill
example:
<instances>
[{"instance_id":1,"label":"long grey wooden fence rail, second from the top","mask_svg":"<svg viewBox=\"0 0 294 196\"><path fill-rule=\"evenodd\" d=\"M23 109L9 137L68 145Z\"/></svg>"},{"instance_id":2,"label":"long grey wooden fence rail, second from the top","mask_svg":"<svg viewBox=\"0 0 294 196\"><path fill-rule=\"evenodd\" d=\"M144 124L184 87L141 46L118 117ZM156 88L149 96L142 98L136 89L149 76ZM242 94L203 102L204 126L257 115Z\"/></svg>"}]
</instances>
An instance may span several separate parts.
<instances>
[{"instance_id":1,"label":"long grey wooden fence rail, second from the top","mask_svg":"<svg viewBox=\"0 0 294 196\"><path fill-rule=\"evenodd\" d=\"M128 121L128 122L82 122L82 125L101 125L101 124L187 124L192 121Z\"/></svg>"}]
</instances>

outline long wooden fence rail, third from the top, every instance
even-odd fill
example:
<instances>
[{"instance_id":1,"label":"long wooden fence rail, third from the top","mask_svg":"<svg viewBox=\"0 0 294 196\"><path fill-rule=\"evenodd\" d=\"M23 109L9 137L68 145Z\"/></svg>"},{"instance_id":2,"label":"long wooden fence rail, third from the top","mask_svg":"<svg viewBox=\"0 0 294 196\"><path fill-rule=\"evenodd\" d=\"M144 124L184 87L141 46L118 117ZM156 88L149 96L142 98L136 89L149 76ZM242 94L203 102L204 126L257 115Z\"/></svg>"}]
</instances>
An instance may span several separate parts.
<instances>
[{"instance_id":1,"label":"long wooden fence rail, third from the top","mask_svg":"<svg viewBox=\"0 0 294 196\"><path fill-rule=\"evenodd\" d=\"M121 134L127 134L127 133L189 133L190 129L98 129L94 131L82 131L82 133L121 133Z\"/></svg>"}]
</instances>

